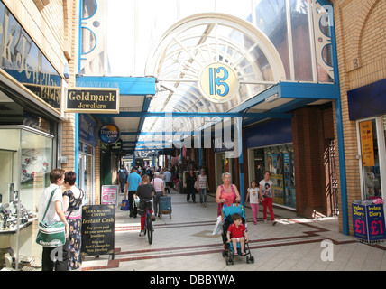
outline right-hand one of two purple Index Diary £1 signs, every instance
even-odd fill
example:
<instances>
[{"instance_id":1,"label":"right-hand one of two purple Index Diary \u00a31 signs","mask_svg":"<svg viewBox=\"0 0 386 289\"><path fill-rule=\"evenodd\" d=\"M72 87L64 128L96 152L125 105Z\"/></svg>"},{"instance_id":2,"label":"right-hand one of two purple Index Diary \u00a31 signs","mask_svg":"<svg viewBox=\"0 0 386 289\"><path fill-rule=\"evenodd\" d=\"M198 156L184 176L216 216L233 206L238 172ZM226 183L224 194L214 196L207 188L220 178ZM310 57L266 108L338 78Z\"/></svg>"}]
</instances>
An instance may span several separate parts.
<instances>
[{"instance_id":1,"label":"right-hand one of two purple Index Diary \u00a31 signs","mask_svg":"<svg viewBox=\"0 0 386 289\"><path fill-rule=\"evenodd\" d=\"M367 206L366 213L370 241L386 239L383 205Z\"/></svg>"}]
</instances>

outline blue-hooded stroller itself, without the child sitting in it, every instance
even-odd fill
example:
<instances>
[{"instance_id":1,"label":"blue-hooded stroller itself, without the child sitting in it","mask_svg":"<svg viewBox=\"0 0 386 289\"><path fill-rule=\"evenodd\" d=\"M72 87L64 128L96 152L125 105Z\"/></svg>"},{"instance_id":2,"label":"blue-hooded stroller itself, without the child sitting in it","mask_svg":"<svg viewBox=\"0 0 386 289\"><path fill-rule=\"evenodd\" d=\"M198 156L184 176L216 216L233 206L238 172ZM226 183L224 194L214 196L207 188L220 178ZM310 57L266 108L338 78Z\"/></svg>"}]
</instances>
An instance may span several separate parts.
<instances>
[{"instance_id":1,"label":"blue-hooded stroller itself, without the child sitting in it","mask_svg":"<svg viewBox=\"0 0 386 289\"><path fill-rule=\"evenodd\" d=\"M226 256L226 265L233 265L234 264L234 247L232 246L232 243L227 242L226 233L228 231L228 228L230 225L233 224L232 215L235 213L240 214L243 217L243 224L245 228L247 228L246 224L246 218L245 218L245 212L244 207L241 204L230 204L230 205L224 205L222 210L222 219L223 219L223 244L224 244L224 250L223 250L223 257ZM249 244L245 242L244 245L244 253L246 257L246 263L254 263L254 257L251 255L251 250L249 249ZM240 243L237 243L237 254L238 256L241 255L241 247Z\"/></svg>"}]
</instances>

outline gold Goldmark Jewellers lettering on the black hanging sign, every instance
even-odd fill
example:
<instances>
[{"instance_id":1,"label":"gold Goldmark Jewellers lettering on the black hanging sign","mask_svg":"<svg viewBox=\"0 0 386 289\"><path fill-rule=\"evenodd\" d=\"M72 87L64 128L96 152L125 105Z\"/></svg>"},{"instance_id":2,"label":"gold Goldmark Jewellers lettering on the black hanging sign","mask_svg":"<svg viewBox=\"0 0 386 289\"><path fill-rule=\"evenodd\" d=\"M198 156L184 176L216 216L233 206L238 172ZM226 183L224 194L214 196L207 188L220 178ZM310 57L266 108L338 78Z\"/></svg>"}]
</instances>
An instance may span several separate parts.
<instances>
[{"instance_id":1,"label":"gold Goldmark Jewellers lettering on the black hanging sign","mask_svg":"<svg viewBox=\"0 0 386 289\"><path fill-rule=\"evenodd\" d=\"M116 95L113 92L108 94L91 94L88 92L70 91L69 100L78 101L77 108L89 109L105 109L106 104L99 104L99 102L114 103ZM88 102L88 103L87 103Z\"/></svg>"}]
</instances>

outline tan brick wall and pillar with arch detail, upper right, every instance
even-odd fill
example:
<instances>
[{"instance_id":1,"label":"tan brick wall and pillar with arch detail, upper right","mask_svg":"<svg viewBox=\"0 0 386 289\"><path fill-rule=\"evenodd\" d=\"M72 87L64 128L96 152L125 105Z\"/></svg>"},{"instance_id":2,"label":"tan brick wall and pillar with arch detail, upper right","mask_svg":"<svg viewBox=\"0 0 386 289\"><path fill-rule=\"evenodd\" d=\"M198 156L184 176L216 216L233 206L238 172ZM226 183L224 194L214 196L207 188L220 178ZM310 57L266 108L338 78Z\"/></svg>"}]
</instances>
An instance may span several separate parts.
<instances>
[{"instance_id":1,"label":"tan brick wall and pillar with arch detail, upper right","mask_svg":"<svg viewBox=\"0 0 386 289\"><path fill-rule=\"evenodd\" d=\"M348 220L352 234L352 200L360 200L361 173L356 126L349 120L347 91L386 79L386 2L333 0L345 137ZM336 132L335 132L336 135ZM342 230L342 216L340 216Z\"/></svg>"}]
</instances>

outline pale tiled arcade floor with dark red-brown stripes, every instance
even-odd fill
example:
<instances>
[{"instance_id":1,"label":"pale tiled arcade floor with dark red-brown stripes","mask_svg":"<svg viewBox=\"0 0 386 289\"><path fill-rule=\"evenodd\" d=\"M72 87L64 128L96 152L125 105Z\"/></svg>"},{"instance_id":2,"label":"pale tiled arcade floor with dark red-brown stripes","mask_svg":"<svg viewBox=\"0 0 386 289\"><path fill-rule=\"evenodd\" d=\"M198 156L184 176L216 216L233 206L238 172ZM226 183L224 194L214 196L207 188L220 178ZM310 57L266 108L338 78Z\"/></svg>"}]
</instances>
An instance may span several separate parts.
<instances>
[{"instance_id":1,"label":"pale tiled arcade floor with dark red-brown stripes","mask_svg":"<svg viewBox=\"0 0 386 289\"><path fill-rule=\"evenodd\" d=\"M122 197L120 197L121 199ZM207 208L187 202L186 195L171 193L172 213L154 223L152 245L139 237L140 219L127 211L115 210L115 258L86 256L82 270L113 271L384 271L386 243L369 246L338 231L336 218L303 219L293 211L274 208L278 223L264 224L262 208L253 225L251 209L245 209L254 263L245 257L227 266L222 256L220 235L213 236L216 224L214 196ZM327 242L325 245L323 241ZM323 246L324 245L324 246ZM327 260L326 260L327 259Z\"/></svg>"}]
</instances>

